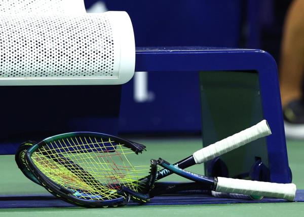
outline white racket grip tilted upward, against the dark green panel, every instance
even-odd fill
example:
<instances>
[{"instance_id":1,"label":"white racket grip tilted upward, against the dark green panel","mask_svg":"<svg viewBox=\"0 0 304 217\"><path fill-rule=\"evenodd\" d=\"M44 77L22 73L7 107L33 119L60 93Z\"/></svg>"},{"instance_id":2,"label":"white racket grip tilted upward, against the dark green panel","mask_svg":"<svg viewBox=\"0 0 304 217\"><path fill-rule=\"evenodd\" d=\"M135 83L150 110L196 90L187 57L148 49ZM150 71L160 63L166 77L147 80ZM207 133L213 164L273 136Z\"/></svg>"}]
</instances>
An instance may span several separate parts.
<instances>
[{"instance_id":1,"label":"white racket grip tilted upward, against the dark green panel","mask_svg":"<svg viewBox=\"0 0 304 217\"><path fill-rule=\"evenodd\" d=\"M250 128L210 144L210 146L195 152L193 154L193 158L197 164L200 164L270 134L271 130L269 125L266 120L263 120Z\"/></svg>"}]
</instances>

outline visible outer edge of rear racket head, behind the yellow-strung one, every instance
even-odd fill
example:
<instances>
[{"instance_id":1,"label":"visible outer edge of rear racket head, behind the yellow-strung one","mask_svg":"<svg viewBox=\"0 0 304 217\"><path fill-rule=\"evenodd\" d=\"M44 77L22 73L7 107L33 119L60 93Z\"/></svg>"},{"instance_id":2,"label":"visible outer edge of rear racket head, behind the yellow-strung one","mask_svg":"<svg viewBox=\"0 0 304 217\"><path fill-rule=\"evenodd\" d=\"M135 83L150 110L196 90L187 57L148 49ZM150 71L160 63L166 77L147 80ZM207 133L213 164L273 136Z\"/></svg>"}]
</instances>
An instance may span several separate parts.
<instances>
[{"instance_id":1,"label":"visible outer edge of rear racket head, behind the yellow-strung one","mask_svg":"<svg viewBox=\"0 0 304 217\"><path fill-rule=\"evenodd\" d=\"M35 141L26 141L20 144L16 154L15 154L15 161L17 163L18 168L21 170L21 172L32 182L41 185L39 180L36 178L36 176L31 172L31 170L28 168L28 165L25 160L26 151L35 144Z\"/></svg>"}]
</instances>

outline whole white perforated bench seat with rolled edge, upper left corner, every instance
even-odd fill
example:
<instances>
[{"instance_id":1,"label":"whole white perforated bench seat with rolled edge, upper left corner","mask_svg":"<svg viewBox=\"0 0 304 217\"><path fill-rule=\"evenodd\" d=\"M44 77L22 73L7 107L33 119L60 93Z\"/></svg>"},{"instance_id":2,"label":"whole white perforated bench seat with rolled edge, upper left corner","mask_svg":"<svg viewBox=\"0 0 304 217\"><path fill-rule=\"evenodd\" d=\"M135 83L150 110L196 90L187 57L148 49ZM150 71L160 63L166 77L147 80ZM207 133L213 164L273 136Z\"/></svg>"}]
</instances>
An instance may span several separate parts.
<instances>
[{"instance_id":1,"label":"whole white perforated bench seat with rolled edge, upper left corner","mask_svg":"<svg viewBox=\"0 0 304 217\"><path fill-rule=\"evenodd\" d=\"M82 0L16 1L9 10L12 2L0 6L0 85L113 85L133 77L126 12L86 14Z\"/></svg>"}]
</instances>

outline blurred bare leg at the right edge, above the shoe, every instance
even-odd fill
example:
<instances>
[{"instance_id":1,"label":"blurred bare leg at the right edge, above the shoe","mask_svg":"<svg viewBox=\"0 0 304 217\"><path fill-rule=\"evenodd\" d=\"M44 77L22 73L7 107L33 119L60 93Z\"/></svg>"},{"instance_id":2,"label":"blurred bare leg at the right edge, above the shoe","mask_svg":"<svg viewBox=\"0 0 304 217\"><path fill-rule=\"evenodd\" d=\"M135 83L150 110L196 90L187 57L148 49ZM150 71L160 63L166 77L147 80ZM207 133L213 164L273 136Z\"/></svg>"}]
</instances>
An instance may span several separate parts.
<instances>
[{"instance_id":1,"label":"blurred bare leg at the right edge, above the shoe","mask_svg":"<svg viewBox=\"0 0 304 217\"><path fill-rule=\"evenodd\" d=\"M304 74L304 1L294 0L288 10L280 60L282 105L302 97Z\"/></svg>"}]
</instances>

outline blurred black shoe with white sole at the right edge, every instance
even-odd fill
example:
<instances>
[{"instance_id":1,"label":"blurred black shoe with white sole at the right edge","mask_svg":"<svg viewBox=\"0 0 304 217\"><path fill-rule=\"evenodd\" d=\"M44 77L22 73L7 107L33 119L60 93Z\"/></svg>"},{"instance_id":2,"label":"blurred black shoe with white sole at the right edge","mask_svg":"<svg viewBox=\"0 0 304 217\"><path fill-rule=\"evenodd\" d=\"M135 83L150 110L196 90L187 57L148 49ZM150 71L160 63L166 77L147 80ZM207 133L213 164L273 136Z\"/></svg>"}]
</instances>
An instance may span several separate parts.
<instances>
[{"instance_id":1,"label":"blurred black shoe with white sole at the right edge","mask_svg":"<svg viewBox=\"0 0 304 217\"><path fill-rule=\"evenodd\" d=\"M286 138L304 139L304 99L289 102L283 116Z\"/></svg>"}]
</instances>

